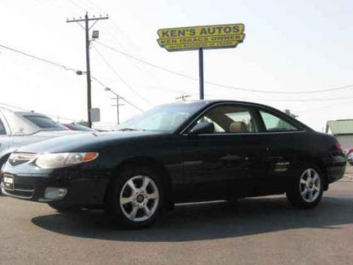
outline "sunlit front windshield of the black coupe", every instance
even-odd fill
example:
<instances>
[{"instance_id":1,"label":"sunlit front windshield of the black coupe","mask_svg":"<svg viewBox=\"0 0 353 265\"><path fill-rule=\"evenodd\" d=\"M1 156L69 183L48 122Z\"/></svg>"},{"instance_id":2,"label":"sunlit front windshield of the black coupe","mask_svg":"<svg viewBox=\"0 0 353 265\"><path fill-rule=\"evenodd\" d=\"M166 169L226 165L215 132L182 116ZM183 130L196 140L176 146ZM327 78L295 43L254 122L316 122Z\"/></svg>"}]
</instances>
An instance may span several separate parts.
<instances>
[{"instance_id":1,"label":"sunlit front windshield of the black coupe","mask_svg":"<svg viewBox=\"0 0 353 265\"><path fill-rule=\"evenodd\" d=\"M201 107L196 103L160 105L130 119L120 130L174 131Z\"/></svg>"}]
</instances>

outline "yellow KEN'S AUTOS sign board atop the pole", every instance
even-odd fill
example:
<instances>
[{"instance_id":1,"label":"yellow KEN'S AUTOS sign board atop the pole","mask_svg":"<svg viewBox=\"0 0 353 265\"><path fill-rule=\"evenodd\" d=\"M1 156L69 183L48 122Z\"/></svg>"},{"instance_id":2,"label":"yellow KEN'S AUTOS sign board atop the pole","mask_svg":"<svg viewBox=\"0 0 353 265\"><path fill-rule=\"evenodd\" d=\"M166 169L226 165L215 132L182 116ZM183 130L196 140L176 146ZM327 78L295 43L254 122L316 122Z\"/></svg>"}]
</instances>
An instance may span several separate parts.
<instances>
[{"instance_id":1,"label":"yellow KEN'S AUTOS sign board atop the pole","mask_svg":"<svg viewBox=\"0 0 353 265\"><path fill-rule=\"evenodd\" d=\"M234 48L243 42L244 24L163 28L157 31L160 47L169 52L192 49Z\"/></svg>"}]
</instances>

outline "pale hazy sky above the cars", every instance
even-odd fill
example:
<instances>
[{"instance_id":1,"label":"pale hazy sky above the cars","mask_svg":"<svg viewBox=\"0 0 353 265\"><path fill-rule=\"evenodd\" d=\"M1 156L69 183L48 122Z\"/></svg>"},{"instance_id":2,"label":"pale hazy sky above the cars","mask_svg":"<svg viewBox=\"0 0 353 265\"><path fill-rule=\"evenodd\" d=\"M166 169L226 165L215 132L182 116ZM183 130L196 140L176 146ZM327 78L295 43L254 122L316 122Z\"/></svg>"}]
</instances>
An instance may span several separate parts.
<instances>
[{"instance_id":1,"label":"pale hazy sky above the cars","mask_svg":"<svg viewBox=\"0 0 353 265\"><path fill-rule=\"evenodd\" d=\"M205 83L205 99L289 109L318 131L330 119L353 118L352 1L6 0L0 45L85 71L85 32L66 18L86 11L109 15L92 28L100 31L90 48L92 76L100 81L92 81L92 107L101 110L96 126L116 123L114 95L105 87L143 110L183 93L198 99L197 80L119 52L197 79L198 52L167 52L157 44L157 30L228 23L244 23L246 38L235 49L205 50L204 74L205 81L233 88ZM86 119L85 76L1 47L0 76L1 104L59 116L61 122ZM307 93L343 86L349 87ZM127 103L120 112L122 121L140 113Z\"/></svg>"}]
</instances>

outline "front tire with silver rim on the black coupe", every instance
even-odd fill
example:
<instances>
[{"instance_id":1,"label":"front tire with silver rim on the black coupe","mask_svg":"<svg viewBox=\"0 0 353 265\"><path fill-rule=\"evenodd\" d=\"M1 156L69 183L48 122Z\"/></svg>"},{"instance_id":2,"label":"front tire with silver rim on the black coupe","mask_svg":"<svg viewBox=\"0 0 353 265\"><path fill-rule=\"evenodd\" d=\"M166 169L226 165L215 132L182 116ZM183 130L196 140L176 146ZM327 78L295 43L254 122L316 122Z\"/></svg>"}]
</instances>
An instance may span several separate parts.
<instances>
[{"instance_id":1,"label":"front tire with silver rim on the black coupe","mask_svg":"<svg viewBox=\"0 0 353 265\"><path fill-rule=\"evenodd\" d=\"M114 182L108 203L116 222L126 228L144 228L162 213L164 192L160 176L148 167L131 167Z\"/></svg>"}]
</instances>

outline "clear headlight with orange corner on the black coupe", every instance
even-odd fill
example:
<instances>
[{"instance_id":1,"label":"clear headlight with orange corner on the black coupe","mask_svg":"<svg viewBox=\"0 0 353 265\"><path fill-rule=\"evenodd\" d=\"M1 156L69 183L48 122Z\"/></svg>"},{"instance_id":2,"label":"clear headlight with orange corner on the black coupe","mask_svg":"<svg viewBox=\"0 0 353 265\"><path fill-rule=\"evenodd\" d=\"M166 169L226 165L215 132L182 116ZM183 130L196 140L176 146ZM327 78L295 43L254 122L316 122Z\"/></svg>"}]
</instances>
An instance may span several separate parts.
<instances>
[{"instance_id":1,"label":"clear headlight with orange corner on the black coupe","mask_svg":"<svg viewBox=\"0 0 353 265\"><path fill-rule=\"evenodd\" d=\"M90 162L98 157L98 153L44 153L37 156L35 165L42 168L66 167Z\"/></svg>"}]
</instances>

